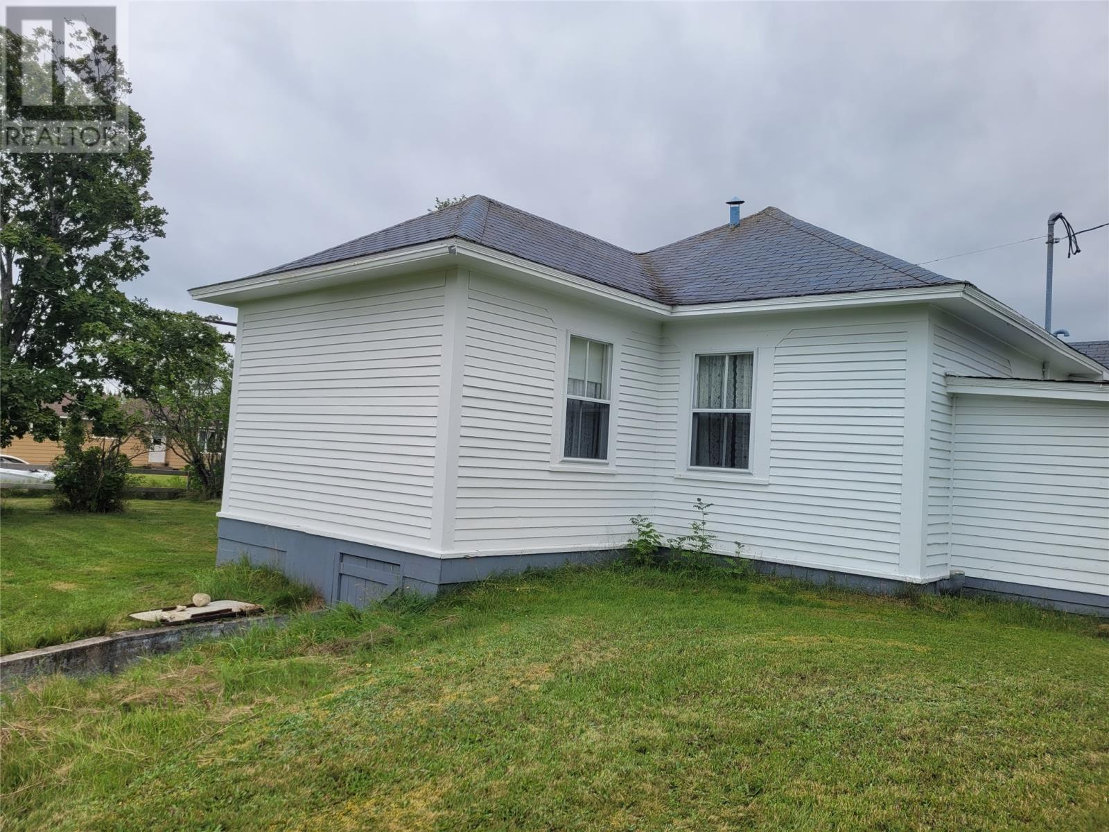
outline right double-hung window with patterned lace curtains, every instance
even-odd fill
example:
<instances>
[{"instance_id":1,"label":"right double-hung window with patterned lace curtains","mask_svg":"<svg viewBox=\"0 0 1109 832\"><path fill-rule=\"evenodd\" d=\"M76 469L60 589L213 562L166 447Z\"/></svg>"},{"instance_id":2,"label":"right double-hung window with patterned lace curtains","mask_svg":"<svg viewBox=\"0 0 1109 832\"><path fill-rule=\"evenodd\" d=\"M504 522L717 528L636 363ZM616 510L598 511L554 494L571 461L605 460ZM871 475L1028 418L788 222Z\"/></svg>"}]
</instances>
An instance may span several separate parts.
<instances>
[{"instance_id":1,"label":"right double-hung window with patterned lace curtains","mask_svg":"<svg viewBox=\"0 0 1109 832\"><path fill-rule=\"evenodd\" d=\"M749 469L754 355L699 355L694 364L690 465Z\"/></svg>"}]
</instances>

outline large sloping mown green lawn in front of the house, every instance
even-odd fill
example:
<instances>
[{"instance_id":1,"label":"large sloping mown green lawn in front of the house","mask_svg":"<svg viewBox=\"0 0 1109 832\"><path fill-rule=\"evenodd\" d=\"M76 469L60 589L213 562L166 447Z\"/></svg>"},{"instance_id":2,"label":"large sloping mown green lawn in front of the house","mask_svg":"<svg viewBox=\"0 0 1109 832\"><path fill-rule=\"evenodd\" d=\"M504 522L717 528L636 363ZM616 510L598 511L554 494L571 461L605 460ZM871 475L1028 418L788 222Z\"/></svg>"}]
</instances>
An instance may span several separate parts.
<instances>
[{"instance_id":1,"label":"large sloping mown green lawn in front of the house","mask_svg":"<svg viewBox=\"0 0 1109 832\"><path fill-rule=\"evenodd\" d=\"M1109 829L1109 639L651 569L301 617L6 702L11 830Z\"/></svg>"}]
</instances>

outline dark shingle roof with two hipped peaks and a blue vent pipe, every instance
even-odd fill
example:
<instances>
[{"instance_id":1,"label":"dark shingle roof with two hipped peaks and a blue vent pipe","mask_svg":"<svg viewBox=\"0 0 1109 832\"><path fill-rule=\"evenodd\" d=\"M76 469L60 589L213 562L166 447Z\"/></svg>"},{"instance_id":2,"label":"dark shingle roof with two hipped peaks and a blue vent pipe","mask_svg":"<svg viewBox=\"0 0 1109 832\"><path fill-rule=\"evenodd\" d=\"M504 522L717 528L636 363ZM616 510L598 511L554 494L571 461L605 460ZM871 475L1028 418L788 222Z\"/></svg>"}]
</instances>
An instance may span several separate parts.
<instances>
[{"instance_id":1,"label":"dark shingle roof with two hipped peaks and a blue vent pipe","mask_svg":"<svg viewBox=\"0 0 1109 832\"><path fill-rule=\"evenodd\" d=\"M635 254L487 196L408 220L260 274L460 237L667 304L953 284L775 207Z\"/></svg>"}]
</instances>

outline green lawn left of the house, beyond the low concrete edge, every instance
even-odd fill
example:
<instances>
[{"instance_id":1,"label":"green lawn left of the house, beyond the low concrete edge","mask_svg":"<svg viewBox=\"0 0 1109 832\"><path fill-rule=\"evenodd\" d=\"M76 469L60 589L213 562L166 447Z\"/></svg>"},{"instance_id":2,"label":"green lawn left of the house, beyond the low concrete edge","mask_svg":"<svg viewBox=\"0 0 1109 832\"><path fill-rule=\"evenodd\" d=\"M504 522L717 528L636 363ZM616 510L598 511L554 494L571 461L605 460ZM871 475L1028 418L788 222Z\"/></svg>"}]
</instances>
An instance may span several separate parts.
<instances>
[{"instance_id":1,"label":"green lawn left of the house, beyond the low concrete edge","mask_svg":"<svg viewBox=\"0 0 1109 832\"><path fill-rule=\"evenodd\" d=\"M286 581L214 569L217 508L135 499L120 515L78 515L53 511L49 497L4 500L0 652L138 627L129 612L189 603L197 591L267 603L276 589L283 599Z\"/></svg>"}]
</instances>

